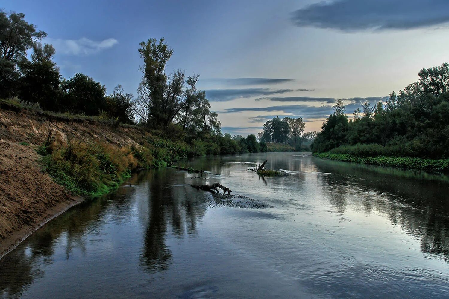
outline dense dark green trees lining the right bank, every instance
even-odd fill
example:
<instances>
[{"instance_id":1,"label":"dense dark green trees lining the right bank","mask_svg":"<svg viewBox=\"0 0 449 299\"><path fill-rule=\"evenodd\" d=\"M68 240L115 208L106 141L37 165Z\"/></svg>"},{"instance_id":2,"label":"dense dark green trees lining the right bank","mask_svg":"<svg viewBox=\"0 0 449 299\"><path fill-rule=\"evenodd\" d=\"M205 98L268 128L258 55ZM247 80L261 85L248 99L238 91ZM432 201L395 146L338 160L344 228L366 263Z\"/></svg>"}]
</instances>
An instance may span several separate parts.
<instances>
[{"instance_id":1,"label":"dense dark green trees lining the right bank","mask_svg":"<svg viewBox=\"0 0 449 299\"><path fill-rule=\"evenodd\" d=\"M313 152L359 157L449 158L449 65L422 69L418 81L386 104L366 102L348 119L342 100L327 117Z\"/></svg>"}]
</instances>

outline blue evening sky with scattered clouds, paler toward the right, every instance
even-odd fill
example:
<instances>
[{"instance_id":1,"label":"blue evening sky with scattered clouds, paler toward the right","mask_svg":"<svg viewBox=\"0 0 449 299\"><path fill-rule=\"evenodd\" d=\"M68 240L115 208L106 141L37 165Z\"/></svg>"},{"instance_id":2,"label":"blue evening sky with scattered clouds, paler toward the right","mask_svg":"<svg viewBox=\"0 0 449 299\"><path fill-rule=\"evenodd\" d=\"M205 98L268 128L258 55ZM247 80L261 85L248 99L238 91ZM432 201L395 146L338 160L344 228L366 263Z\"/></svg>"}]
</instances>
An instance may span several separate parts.
<instances>
[{"instance_id":1,"label":"blue evening sky with scattered clouds, paler toward the right","mask_svg":"<svg viewBox=\"0 0 449 299\"><path fill-rule=\"evenodd\" d=\"M167 71L199 74L223 133L273 117L320 130L336 99L348 115L449 61L447 0L3 0L48 36L65 78L82 72L136 96L137 49L165 38Z\"/></svg>"}]
</instances>

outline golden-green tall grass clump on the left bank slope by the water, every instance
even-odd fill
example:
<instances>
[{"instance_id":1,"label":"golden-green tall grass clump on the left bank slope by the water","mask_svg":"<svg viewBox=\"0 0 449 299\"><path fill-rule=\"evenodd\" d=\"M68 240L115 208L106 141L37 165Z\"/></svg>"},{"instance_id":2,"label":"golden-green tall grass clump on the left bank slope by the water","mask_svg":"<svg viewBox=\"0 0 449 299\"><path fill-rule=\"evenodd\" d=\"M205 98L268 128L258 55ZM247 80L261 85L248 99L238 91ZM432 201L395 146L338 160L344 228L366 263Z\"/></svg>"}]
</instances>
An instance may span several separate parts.
<instances>
[{"instance_id":1,"label":"golden-green tall grass clump on the left bank slope by the water","mask_svg":"<svg viewBox=\"0 0 449 299\"><path fill-rule=\"evenodd\" d=\"M80 140L42 145L43 171L76 195L97 197L116 189L134 169L166 166L166 153L141 146L118 147Z\"/></svg>"}]
</instances>

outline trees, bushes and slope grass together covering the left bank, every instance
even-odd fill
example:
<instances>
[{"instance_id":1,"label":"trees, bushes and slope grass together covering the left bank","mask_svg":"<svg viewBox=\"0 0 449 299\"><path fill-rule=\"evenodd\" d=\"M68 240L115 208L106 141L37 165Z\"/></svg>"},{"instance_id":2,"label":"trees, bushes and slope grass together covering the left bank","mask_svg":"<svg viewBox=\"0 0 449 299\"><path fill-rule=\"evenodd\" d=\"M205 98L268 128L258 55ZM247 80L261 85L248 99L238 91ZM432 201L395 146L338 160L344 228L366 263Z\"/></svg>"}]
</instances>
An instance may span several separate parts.
<instances>
[{"instance_id":1,"label":"trees, bushes and slope grass together covering the left bank","mask_svg":"<svg viewBox=\"0 0 449 299\"><path fill-rule=\"evenodd\" d=\"M275 131L273 140L267 133L260 142L254 134L223 135L206 93L196 87L199 76L186 78L182 70L167 74L173 50L164 39L140 43L143 65L136 98L120 85L106 95L106 87L85 74L62 78L53 61L55 48L39 42L47 34L26 22L23 13L0 10L0 21L0 99L4 99L0 108L48 120L87 121L112 129L128 126L143 132L131 145L48 132L46 142L36 148L42 169L76 195L104 194L135 169L167 166L191 156L295 150L285 144L285 138L284 144L275 144L279 142ZM289 119L289 124L294 122ZM304 126L297 130L287 124L283 129L296 138L297 148Z\"/></svg>"}]
</instances>

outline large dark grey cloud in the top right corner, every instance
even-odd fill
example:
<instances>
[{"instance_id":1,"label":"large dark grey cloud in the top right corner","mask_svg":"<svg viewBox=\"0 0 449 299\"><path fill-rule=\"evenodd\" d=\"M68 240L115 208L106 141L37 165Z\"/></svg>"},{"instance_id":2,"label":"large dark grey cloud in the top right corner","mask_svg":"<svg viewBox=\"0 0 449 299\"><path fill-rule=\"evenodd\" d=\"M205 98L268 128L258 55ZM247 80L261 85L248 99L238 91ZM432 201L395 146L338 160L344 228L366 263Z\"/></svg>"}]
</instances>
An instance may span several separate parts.
<instances>
[{"instance_id":1,"label":"large dark grey cloud in the top right corner","mask_svg":"<svg viewBox=\"0 0 449 299\"><path fill-rule=\"evenodd\" d=\"M409 30L449 22L448 0L334 0L292 13L296 26L342 31Z\"/></svg>"}]
</instances>

